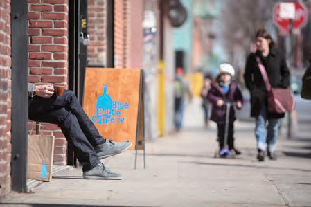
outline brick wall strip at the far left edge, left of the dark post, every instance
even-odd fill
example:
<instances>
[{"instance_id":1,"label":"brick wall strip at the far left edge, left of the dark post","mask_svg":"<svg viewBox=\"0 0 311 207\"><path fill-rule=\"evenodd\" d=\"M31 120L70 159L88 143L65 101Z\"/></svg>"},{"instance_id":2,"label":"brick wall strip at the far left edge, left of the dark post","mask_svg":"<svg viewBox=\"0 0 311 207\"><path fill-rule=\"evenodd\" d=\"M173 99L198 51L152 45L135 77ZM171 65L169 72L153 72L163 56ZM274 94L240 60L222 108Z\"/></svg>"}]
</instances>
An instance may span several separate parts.
<instances>
[{"instance_id":1,"label":"brick wall strip at the far left edge, left of the dark post","mask_svg":"<svg viewBox=\"0 0 311 207\"><path fill-rule=\"evenodd\" d=\"M11 37L10 1L0 1L0 197L10 192Z\"/></svg>"}]
</instances>

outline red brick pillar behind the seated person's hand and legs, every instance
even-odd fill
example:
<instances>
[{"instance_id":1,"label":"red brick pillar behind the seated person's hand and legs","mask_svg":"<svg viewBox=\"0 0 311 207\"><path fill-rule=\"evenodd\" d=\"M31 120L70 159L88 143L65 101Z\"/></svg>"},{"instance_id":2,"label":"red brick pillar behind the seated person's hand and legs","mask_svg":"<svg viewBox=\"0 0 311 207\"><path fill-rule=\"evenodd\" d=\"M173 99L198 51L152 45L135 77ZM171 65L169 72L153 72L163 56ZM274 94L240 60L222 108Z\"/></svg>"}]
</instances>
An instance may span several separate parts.
<instances>
[{"instance_id":1,"label":"red brick pillar behind the seated person's hand and legs","mask_svg":"<svg viewBox=\"0 0 311 207\"><path fill-rule=\"evenodd\" d=\"M28 81L67 86L68 0L28 0ZM29 128L34 123L29 123ZM57 125L43 123L55 136L54 165L66 165L66 140Z\"/></svg>"}]
</instances>

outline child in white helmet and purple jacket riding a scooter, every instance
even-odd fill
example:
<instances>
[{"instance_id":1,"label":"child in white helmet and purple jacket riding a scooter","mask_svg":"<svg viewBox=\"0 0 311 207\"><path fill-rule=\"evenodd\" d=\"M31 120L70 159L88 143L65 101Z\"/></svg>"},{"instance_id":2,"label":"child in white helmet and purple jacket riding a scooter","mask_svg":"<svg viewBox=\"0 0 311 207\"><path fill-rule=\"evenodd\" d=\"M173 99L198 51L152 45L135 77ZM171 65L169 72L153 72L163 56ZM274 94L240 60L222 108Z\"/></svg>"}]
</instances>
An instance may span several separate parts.
<instances>
[{"instance_id":1,"label":"child in white helmet and purple jacket riding a scooter","mask_svg":"<svg viewBox=\"0 0 311 207\"><path fill-rule=\"evenodd\" d=\"M232 77L234 76L233 66L230 64L220 64L218 73L211 84L211 89L208 91L207 100L213 105L211 120L217 123L217 140L219 141L220 150L224 148L224 132L226 120L226 106L224 102L236 103L238 109L242 108L242 93ZM236 155L241 154L234 147L233 138L233 122L236 120L236 115L233 107L230 109L229 116L229 132L228 132L228 147L229 150L234 150ZM224 155L226 156L226 155Z\"/></svg>"}]
</instances>

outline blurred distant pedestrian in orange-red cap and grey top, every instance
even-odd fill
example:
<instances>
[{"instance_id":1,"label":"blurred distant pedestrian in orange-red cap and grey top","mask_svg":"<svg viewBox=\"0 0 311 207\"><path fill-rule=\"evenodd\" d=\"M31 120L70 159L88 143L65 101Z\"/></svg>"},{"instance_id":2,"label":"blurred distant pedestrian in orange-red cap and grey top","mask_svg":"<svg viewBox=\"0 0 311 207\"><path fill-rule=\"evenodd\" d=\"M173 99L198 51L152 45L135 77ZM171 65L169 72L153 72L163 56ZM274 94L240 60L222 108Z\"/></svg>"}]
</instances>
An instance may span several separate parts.
<instances>
[{"instance_id":1,"label":"blurred distant pedestrian in orange-red cap and grey top","mask_svg":"<svg viewBox=\"0 0 311 207\"><path fill-rule=\"evenodd\" d=\"M174 100L175 100L174 124L175 130L177 132L182 127L186 94L188 94L191 101L193 95L190 91L190 85L188 81L184 78L184 70L181 68L177 68L176 76L174 79Z\"/></svg>"}]
</instances>

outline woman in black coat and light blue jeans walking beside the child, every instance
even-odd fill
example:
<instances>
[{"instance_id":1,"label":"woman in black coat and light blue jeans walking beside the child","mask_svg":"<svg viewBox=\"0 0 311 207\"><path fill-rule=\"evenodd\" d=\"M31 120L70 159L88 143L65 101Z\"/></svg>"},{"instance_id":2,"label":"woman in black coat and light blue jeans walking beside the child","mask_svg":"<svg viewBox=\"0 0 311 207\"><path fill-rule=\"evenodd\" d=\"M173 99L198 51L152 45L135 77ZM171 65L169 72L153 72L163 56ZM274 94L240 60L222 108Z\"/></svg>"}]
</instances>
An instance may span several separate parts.
<instances>
[{"instance_id":1,"label":"woman in black coat and light blue jeans walking beside the child","mask_svg":"<svg viewBox=\"0 0 311 207\"><path fill-rule=\"evenodd\" d=\"M290 84L290 71L287 68L285 58L274 45L272 36L267 30L258 30L256 33L257 50L255 53L249 54L245 66L245 85L251 93L251 117L256 118L255 136L258 148L258 161L264 161L266 150L269 159L276 160L278 119L283 118L285 114L267 111L267 88L256 57L259 57L263 66L265 66L271 87L287 88ZM268 123L267 129L266 123Z\"/></svg>"}]
</instances>

